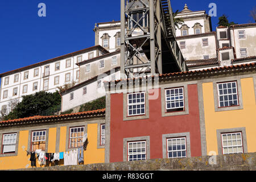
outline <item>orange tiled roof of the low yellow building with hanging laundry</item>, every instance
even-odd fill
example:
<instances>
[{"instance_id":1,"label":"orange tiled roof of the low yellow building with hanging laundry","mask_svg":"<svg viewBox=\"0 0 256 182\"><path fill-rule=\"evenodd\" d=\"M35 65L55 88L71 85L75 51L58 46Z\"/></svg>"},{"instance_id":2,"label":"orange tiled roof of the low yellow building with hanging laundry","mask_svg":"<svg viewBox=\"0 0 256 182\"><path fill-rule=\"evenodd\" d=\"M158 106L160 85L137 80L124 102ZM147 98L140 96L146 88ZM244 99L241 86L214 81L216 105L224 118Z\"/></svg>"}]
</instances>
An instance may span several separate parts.
<instances>
[{"instance_id":1,"label":"orange tiled roof of the low yellow building with hanging laundry","mask_svg":"<svg viewBox=\"0 0 256 182\"><path fill-rule=\"evenodd\" d=\"M92 118L92 117L105 115L105 110L106 109L98 109L98 110L92 110L92 111L84 111L81 113L50 115L50 116L36 115L28 118L0 121L0 126L23 125L28 123L39 123L39 122L56 122L56 121L63 121L65 119Z\"/></svg>"}]
</instances>

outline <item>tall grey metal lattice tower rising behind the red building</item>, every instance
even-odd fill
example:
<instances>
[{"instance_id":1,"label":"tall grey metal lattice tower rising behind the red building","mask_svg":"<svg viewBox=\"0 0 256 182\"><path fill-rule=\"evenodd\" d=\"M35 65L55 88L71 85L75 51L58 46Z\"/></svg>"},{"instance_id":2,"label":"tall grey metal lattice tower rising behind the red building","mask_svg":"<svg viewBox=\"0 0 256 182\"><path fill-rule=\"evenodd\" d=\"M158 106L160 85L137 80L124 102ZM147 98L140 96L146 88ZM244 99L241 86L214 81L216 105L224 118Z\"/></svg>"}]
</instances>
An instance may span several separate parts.
<instances>
[{"instance_id":1,"label":"tall grey metal lattice tower rising behind the red building","mask_svg":"<svg viewBox=\"0 0 256 182\"><path fill-rule=\"evenodd\" d=\"M121 0L121 77L187 71L170 0Z\"/></svg>"}]
</instances>

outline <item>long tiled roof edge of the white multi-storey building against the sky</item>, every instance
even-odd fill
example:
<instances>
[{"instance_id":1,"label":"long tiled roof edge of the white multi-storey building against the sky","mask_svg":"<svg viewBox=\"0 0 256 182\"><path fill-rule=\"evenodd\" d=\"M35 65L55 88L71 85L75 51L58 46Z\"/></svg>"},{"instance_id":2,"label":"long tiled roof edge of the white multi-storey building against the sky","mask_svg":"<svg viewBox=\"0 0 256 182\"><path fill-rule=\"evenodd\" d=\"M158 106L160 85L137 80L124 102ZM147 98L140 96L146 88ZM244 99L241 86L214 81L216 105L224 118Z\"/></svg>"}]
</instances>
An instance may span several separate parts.
<instances>
[{"instance_id":1,"label":"long tiled roof edge of the white multi-storey building against the sky","mask_svg":"<svg viewBox=\"0 0 256 182\"><path fill-rule=\"evenodd\" d=\"M105 48L101 47L100 45L98 45L98 46L93 46L93 47L89 47L89 48L86 48L86 49L82 49L82 50L80 50L80 51L68 53L67 55L63 55L63 56L55 57L55 58L52 58L52 59L49 59L49 60L46 60L46 61L41 61L41 62L39 62L39 63L31 64L31 65L28 65L28 66L26 66L26 67L14 69L13 71L1 73L1 74L0 74L0 77L6 76L6 75L10 75L10 74L16 73L16 72L22 72L22 71L25 71L25 70L30 69L30 68L39 67L39 66L41 66L41 65L43 65L43 64L52 63L53 61L57 61L57 60L60 60L60 59L65 59L65 58L67 58L67 57L79 55L80 53L83 53L83 52L86 52L86 51L90 51L91 49L102 49L103 52L109 53L108 50L106 50Z\"/></svg>"}]
</instances>

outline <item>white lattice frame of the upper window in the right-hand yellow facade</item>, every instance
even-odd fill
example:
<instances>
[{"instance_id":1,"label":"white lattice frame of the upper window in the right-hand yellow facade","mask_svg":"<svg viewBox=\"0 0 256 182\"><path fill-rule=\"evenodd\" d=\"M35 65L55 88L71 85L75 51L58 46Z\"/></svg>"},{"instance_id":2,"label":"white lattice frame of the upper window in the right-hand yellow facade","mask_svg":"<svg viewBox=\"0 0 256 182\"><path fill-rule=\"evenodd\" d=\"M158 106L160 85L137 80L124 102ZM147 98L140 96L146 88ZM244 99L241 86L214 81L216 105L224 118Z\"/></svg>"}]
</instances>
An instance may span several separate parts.
<instances>
[{"instance_id":1,"label":"white lattice frame of the upper window in the right-hand yellow facade","mask_svg":"<svg viewBox=\"0 0 256 182\"><path fill-rule=\"evenodd\" d=\"M233 88L233 83L236 84L236 88ZM224 88L224 84L226 84L226 88ZM228 88L228 84L231 84L231 88ZM221 85L221 88L220 88ZM226 89L226 93L224 92ZM234 92L234 89L236 89L236 93ZM222 90L222 93L220 92ZM231 90L232 93L229 93L229 91ZM239 106L239 95L238 95L238 88L237 88L237 81L230 81L230 82L221 82L221 83L217 83L217 91L218 91L218 107L231 107L231 106ZM234 98L234 95L236 95L236 99ZM229 98L229 96L232 96L232 99ZM221 97L223 98L223 101L221 99ZM225 100L225 98L228 98L228 100ZM237 105L230 105L230 101L232 101L234 103L234 101L237 101ZM221 106L221 102L223 102L223 106ZM225 106L225 102L228 102L228 105Z\"/></svg>"}]
</instances>

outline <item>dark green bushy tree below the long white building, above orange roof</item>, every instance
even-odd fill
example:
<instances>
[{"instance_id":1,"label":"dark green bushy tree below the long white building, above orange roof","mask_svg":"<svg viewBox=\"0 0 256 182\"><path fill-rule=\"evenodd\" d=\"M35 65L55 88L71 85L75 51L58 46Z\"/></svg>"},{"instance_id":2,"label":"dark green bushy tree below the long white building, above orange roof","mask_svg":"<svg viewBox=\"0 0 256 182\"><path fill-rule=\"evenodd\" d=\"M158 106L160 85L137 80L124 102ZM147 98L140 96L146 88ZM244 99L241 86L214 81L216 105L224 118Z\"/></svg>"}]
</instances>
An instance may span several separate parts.
<instances>
[{"instance_id":1,"label":"dark green bushy tree below the long white building, above orange roof","mask_svg":"<svg viewBox=\"0 0 256 182\"><path fill-rule=\"evenodd\" d=\"M59 92L36 92L28 96L23 96L13 111L6 115L3 119L19 119L32 117L35 115L53 115L60 110L61 96Z\"/></svg>"}]
</instances>

